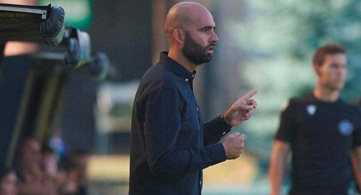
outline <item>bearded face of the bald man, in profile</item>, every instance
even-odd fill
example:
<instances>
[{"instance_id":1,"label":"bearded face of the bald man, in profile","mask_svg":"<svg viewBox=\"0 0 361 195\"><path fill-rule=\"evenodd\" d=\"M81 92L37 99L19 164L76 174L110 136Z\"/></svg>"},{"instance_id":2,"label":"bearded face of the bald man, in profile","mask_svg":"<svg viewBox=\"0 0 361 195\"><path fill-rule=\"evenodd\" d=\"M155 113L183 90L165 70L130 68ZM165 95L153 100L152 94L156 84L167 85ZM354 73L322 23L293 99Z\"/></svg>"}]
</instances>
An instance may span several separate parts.
<instances>
[{"instance_id":1,"label":"bearded face of the bald man, in profile","mask_svg":"<svg viewBox=\"0 0 361 195\"><path fill-rule=\"evenodd\" d=\"M214 43L218 37L214 32L215 23L209 12L195 13L192 25L185 30L183 54L197 65L212 60Z\"/></svg>"}]
</instances>

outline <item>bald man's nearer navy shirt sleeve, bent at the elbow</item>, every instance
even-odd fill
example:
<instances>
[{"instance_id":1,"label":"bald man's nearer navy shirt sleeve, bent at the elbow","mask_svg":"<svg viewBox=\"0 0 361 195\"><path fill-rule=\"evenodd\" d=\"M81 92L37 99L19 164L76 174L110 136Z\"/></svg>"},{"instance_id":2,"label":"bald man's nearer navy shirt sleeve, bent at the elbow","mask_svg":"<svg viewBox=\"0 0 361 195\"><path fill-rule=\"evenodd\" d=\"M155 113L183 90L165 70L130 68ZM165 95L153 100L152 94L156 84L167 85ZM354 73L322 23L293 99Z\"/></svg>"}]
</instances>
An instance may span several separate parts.
<instances>
[{"instance_id":1,"label":"bald man's nearer navy shirt sleeve, bent at the elbow","mask_svg":"<svg viewBox=\"0 0 361 195\"><path fill-rule=\"evenodd\" d=\"M183 101L173 88L157 89L142 100L147 162L157 177L179 177L226 160L221 143L202 148L175 148Z\"/></svg>"}]
</instances>

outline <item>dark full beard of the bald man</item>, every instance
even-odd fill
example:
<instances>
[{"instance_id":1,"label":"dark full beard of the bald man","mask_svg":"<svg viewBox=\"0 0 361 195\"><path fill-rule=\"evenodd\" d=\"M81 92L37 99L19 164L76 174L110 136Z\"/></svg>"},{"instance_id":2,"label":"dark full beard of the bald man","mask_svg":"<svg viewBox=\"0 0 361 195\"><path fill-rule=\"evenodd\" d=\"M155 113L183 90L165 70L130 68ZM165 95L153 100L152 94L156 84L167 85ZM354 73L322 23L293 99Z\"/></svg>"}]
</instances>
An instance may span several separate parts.
<instances>
[{"instance_id":1,"label":"dark full beard of the bald man","mask_svg":"<svg viewBox=\"0 0 361 195\"><path fill-rule=\"evenodd\" d=\"M191 37L188 31L186 31L186 39L182 50L183 55L197 65L210 62L212 60L212 54L206 52L210 46L215 46L215 44L210 43L203 47Z\"/></svg>"}]
</instances>

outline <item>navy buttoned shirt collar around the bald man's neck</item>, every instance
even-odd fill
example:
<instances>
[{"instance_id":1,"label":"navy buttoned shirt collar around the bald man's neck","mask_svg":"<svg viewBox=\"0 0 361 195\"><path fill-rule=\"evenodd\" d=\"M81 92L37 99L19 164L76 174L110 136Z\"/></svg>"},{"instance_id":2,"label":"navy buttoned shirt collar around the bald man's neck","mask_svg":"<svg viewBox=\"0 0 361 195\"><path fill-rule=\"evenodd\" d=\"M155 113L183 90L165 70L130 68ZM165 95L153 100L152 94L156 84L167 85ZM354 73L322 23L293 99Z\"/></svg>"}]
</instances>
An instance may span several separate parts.
<instances>
[{"instance_id":1,"label":"navy buttoned shirt collar around the bald man's neck","mask_svg":"<svg viewBox=\"0 0 361 195\"><path fill-rule=\"evenodd\" d=\"M184 66L168 57L167 51L160 52L159 62L171 68L179 77L190 83L193 81L194 76L197 73L197 71L193 71L191 73L189 70L184 68Z\"/></svg>"}]
</instances>

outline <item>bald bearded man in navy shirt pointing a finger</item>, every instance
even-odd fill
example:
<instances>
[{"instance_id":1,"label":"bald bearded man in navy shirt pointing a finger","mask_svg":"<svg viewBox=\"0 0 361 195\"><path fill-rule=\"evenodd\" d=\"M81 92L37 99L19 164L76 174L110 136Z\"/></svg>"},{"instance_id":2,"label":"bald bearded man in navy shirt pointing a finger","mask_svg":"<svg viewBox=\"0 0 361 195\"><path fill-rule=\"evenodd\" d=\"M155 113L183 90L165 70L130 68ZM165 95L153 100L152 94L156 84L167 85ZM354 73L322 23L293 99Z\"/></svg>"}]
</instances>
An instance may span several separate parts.
<instances>
[{"instance_id":1,"label":"bald bearded man in navy shirt pointing a finger","mask_svg":"<svg viewBox=\"0 0 361 195\"><path fill-rule=\"evenodd\" d=\"M135 95L130 148L130 195L199 195L202 170L236 159L246 135L226 135L251 118L257 90L204 123L193 94L196 68L212 59L215 43L212 15L204 6L174 5L165 22L170 46L143 76ZM222 136L221 142L217 143Z\"/></svg>"}]
</instances>

